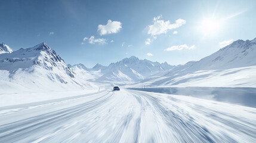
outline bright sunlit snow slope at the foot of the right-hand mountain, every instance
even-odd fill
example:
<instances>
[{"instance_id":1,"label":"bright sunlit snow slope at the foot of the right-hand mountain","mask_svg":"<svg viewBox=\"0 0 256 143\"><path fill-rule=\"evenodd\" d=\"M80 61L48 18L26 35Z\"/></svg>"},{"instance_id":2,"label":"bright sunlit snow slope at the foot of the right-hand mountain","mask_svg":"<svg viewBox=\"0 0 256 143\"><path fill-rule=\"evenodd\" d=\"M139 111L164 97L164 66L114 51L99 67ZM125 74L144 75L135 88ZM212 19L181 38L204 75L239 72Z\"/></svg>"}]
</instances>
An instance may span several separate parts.
<instances>
[{"instance_id":1,"label":"bright sunlit snow slope at the foot of the right-hand mountain","mask_svg":"<svg viewBox=\"0 0 256 143\"><path fill-rule=\"evenodd\" d=\"M256 66L226 70L183 71L173 74L155 75L141 80L133 87L141 86L207 86L207 87L252 87L256 88Z\"/></svg>"}]
</instances>

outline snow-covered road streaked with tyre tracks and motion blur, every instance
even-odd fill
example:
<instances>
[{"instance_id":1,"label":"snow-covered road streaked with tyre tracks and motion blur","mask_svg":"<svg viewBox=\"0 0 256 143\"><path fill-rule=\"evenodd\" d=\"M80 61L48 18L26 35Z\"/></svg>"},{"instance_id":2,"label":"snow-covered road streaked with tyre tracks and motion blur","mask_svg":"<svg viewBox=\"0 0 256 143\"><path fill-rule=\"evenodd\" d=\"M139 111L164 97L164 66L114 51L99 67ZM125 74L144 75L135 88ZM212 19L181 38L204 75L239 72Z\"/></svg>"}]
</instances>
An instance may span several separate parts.
<instances>
[{"instance_id":1,"label":"snow-covered road streaked with tyre tracks and motion blur","mask_svg":"<svg viewBox=\"0 0 256 143\"><path fill-rule=\"evenodd\" d=\"M0 108L0 142L256 142L256 108L102 91Z\"/></svg>"}]
</instances>

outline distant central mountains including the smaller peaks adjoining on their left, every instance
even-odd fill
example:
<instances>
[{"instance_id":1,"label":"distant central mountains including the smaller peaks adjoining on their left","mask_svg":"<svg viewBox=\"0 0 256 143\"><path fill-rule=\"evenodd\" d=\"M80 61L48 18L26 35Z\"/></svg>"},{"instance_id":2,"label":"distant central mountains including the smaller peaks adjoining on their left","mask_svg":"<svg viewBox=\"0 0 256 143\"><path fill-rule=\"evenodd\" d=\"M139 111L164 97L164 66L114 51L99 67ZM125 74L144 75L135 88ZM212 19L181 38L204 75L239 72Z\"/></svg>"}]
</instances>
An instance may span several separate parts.
<instances>
[{"instance_id":1,"label":"distant central mountains including the smaller peaks adjoining on their left","mask_svg":"<svg viewBox=\"0 0 256 143\"><path fill-rule=\"evenodd\" d=\"M168 63L158 63L149 60L140 60L137 57L124 58L109 66L96 64L92 69L85 69L84 65L76 64L72 66L72 71L81 75L91 77L94 82L104 83L134 83L145 79L159 71L171 69Z\"/></svg>"}]
</instances>

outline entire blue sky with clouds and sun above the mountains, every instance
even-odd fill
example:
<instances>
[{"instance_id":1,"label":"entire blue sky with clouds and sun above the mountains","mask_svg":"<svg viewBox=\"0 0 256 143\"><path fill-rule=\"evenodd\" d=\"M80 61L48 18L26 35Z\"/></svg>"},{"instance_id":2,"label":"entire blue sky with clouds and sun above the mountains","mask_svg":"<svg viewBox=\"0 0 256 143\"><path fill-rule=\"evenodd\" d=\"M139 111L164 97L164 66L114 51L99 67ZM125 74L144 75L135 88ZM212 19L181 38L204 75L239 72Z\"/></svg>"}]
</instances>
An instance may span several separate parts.
<instances>
[{"instance_id":1,"label":"entire blue sky with clouds and sun above the mountains","mask_svg":"<svg viewBox=\"0 0 256 143\"><path fill-rule=\"evenodd\" d=\"M256 1L1 1L0 42L46 42L69 64L135 55L184 64L256 37Z\"/></svg>"}]
</instances>

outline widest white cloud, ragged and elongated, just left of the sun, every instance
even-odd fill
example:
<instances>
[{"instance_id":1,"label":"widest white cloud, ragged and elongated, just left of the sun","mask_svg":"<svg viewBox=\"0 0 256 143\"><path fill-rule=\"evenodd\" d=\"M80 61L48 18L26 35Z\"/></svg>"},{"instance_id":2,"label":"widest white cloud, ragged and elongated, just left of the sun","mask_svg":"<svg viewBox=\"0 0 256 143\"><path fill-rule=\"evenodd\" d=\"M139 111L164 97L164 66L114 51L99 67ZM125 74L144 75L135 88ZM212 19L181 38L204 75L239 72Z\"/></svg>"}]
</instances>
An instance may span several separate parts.
<instances>
[{"instance_id":1,"label":"widest white cloud, ragged and elongated, just left of the sun","mask_svg":"<svg viewBox=\"0 0 256 143\"><path fill-rule=\"evenodd\" d=\"M159 15L158 17L154 17L153 25L149 25L149 31L147 32L148 34L155 36L155 35L160 35L162 33L167 33L168 30L171 29L177 29L178 27L182 26L183 24L186 23L186 20L183 19L178 19L175 21L175 23L171 24L170 21L164 21L160 20L162 18L162 15Z\"/></svg>"}]
</instances>

